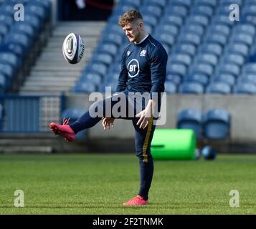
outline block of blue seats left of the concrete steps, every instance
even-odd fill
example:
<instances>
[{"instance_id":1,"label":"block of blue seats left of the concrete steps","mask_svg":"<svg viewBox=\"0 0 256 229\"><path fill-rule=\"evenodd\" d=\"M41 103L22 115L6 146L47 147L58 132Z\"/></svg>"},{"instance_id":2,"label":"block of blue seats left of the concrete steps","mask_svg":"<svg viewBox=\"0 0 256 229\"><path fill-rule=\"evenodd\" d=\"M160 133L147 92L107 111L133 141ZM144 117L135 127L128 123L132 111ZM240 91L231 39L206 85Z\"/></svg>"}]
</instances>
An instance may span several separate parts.
<instances>
[{"instance_id":1,"label":"block of blue seats left of the concrete steps","mask_svg":"<svg viewBox=\"0 0 256 229\"><path fill-rule=\"evenodd\" d=\"M23 4L24 21L14 19L14 5ZM47 1L2 1L0 5L1 92L17 92L50 34L51 4Z\"/></svg>"}]
</instances>

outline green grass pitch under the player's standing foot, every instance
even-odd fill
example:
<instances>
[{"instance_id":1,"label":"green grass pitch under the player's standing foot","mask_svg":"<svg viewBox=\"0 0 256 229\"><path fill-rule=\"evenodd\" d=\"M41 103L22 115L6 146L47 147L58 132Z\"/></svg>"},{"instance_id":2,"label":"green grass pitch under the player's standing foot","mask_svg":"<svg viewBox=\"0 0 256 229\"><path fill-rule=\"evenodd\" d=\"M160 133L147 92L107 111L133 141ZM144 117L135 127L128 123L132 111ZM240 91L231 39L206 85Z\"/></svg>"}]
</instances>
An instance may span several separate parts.
<instances>
[{"instance_id":1,"label":"green grass pitch under the player's standing foot","mask_svg":"<svg viewBox=\"0 0 256 229\"><path fill-rule=\"evenodd\" d=\"M0 155L0 214L255 214L256 155L155 161L148 205L123 207L138 193L133 154ZM14 207L15 190L24 208ZM230 207L230 190L240 206Z\"/></svg>"}]
</instances>

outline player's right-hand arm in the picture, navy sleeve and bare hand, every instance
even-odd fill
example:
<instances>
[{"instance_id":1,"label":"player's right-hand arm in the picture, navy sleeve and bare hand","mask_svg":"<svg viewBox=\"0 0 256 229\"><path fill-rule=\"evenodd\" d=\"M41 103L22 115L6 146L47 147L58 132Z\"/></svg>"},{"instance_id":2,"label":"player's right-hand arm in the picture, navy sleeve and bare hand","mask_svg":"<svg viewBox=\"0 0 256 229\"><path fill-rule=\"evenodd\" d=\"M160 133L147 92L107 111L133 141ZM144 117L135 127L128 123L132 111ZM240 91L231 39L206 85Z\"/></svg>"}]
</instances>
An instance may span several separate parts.
<instances>
[{"instance_id":1,"label":"player's right-hand arm in the picture, navy sleeve and bare hand","mask_svg":"<svg viewBox=\"0 0 256 229\"><path fill-rule=\"evenodd\" d=\"M161 92L164 92L167 58L167 53L162 47L155 49L151 54L151 99L148 100L146 108L136 115L140 118L137 122L140 128L145 129L148 126L151 116L158 109Z\"/></svg>"}]
</instances>

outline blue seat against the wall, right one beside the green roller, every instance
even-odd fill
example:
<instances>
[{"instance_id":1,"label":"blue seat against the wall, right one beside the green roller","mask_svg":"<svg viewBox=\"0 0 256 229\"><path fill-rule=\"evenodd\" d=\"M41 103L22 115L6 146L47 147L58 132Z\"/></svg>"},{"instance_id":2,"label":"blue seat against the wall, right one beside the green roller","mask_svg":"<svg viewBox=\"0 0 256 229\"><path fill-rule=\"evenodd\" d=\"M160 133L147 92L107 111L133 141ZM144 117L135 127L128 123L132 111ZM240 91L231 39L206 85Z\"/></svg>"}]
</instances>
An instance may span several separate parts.
<instances>
[{"instance_id":1,"label":"blue seat against the wall, right one beside the green roller","mask_svg":"<svg viewBox=\"0 0 256 229\"><path fill-rule=\"evenodd\" d=\"M230 116L224 109L211 109L203 119L204 137L210 140L229 138Z\"/></svg>"}]
</instances>

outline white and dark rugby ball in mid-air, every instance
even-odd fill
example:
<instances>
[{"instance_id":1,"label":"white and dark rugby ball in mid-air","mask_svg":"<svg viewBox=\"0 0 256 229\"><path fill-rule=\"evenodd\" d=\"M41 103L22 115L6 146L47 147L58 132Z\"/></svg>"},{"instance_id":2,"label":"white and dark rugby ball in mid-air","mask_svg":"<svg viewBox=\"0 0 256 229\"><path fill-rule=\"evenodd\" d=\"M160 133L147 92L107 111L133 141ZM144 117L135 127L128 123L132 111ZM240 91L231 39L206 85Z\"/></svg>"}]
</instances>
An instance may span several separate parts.
<instances>
[{"instance_id":1,"label":"white and dark rugby ball in mid-air","mask_svg":"<svg viewBox=\"0 0 256 229\"><path fill-rule=\"evenodd\" d=\"M70 64L77 64L85 53L85 42L79 34L68 34L62 45L65 60Z\"/></svg>"}]
</instances>

